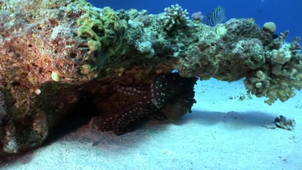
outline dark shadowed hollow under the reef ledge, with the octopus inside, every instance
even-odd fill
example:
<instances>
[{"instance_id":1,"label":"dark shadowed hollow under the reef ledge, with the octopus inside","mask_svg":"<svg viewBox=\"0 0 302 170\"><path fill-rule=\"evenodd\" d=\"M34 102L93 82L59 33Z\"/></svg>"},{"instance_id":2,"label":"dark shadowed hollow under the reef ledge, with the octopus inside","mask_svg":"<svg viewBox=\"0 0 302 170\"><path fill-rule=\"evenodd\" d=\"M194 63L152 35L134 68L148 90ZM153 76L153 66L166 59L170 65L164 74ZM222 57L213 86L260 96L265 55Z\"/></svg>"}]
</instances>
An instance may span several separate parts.
<instances>
[{"instance_id":1,"label":"dark shadowed hollow under the reef ledge, with the octopus inside","mask_svg":"<svg viewBox=\"0 0 302 170\"><path fill-rule=\"evenodd\" d=\"M81 87L81 94L75 107L50 131L49 139L60 137L90 122L100 131L112 131L116 135L135 130L148 120L176 121L191 108L194 99L194 85L197 78L182 78L176 71L157 75L149 84L122 85L117 81L105 89L91 93L92 82ZM105 96L105 97L104 97ZM61 134L61 135L60 135Z\"/></svg>"}]
</instances>

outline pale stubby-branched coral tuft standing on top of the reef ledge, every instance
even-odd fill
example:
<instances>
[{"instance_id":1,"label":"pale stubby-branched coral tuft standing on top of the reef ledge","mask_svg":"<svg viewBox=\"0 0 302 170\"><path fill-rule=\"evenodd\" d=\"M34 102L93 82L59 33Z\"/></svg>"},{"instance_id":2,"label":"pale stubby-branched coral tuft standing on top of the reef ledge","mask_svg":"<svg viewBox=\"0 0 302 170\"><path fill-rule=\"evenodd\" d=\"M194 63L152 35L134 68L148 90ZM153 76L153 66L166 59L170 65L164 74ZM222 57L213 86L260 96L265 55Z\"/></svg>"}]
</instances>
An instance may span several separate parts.
<instances>
[{"instance_id":1,"label":"pale stubby-branched coral tuft standing on top of the reef ledge","mask_svg":"<svg viewBox=\"0 0 302 170\"><path fill-rule=\"evenodd\" d=\"M166 7L164 11L164 27L167 31L170 31L174 26L184 23L189 19L187 9L183 10L178 4Z\"/></svg>"}]
</instances>

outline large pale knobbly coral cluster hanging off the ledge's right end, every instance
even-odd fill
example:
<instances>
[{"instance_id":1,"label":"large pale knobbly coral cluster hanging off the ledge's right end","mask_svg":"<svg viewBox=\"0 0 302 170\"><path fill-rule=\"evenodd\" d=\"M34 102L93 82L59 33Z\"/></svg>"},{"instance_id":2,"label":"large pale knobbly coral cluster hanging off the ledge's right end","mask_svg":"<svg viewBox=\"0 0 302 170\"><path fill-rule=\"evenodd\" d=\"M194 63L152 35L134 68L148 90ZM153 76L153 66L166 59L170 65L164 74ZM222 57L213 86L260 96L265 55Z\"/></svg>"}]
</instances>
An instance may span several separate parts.
<instances>
[{"instance_id":1,"label":"large pale knobbly coral cluster hanging off the ledge's right end","mask_svg":"<svg viewBox=\"0 0 302 170\"><path fill-rule=\"evenodd\" d=\"M282 41L280 48L273 49L268 58L268 63L262 66L261 70L247 76L244 85L248 92L257 97L265 96L269 99L265 103L271 105L277 99L282 102L294 97L294 89L302 88L302 61L299 53L301 47L299 38L291 45L284 45L287 35L282 33L278 41ZM272 43L276 43L273 41ZM269 45L270 46L270 45Z\"/></svg>"}]
</instances>

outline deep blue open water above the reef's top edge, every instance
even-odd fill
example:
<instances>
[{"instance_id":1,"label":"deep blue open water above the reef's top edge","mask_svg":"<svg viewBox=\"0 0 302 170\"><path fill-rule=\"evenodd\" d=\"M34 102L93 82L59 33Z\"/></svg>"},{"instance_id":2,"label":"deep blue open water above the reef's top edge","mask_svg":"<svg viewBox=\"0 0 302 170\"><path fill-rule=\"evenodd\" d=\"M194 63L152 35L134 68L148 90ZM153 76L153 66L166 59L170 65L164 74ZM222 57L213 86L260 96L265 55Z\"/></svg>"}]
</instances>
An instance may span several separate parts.
<instances>
[{"instance_id":1,"label":"deep blue open water above the reef's top edge","mask_svg":"<svg viewBox=\"0 0 302 170\"><path fill-rule=\"evenodd\" d=\"M227 19L255 18L256 23L273 21L277 25L276 33L290 30L287 41L295 36L302 37L302 0L88 0L96 7L110 6L113 9L138 10L147 9L157 14L171 4L178 3L186 8L190 15L201 11L204 15L211 12L217 5L226 9Z\"/></svg>"}]
</instances>

